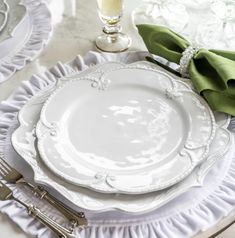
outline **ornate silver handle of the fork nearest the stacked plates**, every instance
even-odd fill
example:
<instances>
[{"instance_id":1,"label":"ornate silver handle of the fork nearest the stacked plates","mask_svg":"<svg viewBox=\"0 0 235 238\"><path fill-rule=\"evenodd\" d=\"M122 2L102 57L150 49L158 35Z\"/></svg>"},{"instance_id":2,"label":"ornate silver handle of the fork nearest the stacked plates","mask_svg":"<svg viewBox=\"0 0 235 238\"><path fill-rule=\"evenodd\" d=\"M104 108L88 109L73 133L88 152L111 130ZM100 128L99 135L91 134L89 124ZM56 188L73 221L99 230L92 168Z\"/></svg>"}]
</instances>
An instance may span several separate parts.
<instances>
[{"instance_id":1,"label":"ornate silver handle of the fork nearest the stacked plates","mask_svg":"<svg viewBox=\"0 0 235 238\"><path fill-rule=\"evenodd\" d=\"M38 196L40 199L47 201L54 208L56 208L61 214L63 214L71 223L72 229L76 226L85 227L88 222L83 212L73 211L71 208L60 202L57 198L53 197L49 194L43 187L41 186L33 186L32 184L28 184L34 195Z\"/></svg>"}]
</instances>

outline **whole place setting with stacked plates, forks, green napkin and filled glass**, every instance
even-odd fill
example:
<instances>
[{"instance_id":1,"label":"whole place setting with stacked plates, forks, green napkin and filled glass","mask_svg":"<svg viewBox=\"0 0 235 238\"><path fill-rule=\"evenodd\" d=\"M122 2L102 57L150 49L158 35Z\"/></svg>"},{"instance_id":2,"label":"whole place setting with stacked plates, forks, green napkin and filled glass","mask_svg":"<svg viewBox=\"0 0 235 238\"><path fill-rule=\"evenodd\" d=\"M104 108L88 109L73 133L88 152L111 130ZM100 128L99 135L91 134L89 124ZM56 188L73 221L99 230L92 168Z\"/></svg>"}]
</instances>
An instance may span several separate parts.
<instances>
[{"instance_id":1,"label":"whole place setting with stacked plates, forks, green napkin and filled glass","mask_svg":"<svg viewBox=\"0 0 235 238\"><path fill-rule=\"evenodd\" d=\"M168 4L147 3L152 17ZM124 5L98 0L96 51L0 104L0 211L28 234L194 237L235 206L235 53L157 18L129 35ZM175 17L194 5L177 1ZM129 50L134 37L147 51Z\"/></svg>"}]
</instances>

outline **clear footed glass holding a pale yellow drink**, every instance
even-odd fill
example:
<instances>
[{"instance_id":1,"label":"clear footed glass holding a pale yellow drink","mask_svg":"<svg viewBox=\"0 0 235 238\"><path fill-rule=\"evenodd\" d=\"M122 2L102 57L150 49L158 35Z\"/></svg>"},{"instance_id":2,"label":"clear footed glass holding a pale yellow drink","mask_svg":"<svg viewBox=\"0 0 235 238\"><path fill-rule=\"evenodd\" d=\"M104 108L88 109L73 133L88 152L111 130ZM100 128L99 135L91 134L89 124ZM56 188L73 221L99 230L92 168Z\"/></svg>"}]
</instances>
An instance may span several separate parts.
<instances>
[{"instance_id":1,"label":"clear footed glass holding a pale yellow drink","mask_svg":"<svg viewBox=\"0 0 235 238\"><path fill-rule=\"evenodd\" d=\"M97 0L98 13L104 23L103 34L96 38L96 47L105 52L122 52L129 48L131 39L121 32L120 20L123 0Z\"/></svg>"}]
</instances>

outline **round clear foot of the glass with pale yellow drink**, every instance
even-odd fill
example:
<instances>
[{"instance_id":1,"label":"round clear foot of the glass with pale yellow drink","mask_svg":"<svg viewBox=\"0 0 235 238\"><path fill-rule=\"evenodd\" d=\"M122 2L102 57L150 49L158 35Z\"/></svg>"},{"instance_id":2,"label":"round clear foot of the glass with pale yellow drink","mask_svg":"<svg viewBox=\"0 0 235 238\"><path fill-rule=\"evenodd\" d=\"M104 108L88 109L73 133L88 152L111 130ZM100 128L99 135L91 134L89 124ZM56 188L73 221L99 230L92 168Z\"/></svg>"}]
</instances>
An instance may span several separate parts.
<instances>
[{"instance_id":1,"label":"round clear foot of the glass with pale yellow drink","mask_svg":"<svg viewBox=\"0 0 235 238\"><path fill-rule=\"evenodd\" d=\"M96 38L95 44L101 51L115 53L127 50L131 45L131 39L121 32L102 34Z\"/></svg>"}]
</instances>

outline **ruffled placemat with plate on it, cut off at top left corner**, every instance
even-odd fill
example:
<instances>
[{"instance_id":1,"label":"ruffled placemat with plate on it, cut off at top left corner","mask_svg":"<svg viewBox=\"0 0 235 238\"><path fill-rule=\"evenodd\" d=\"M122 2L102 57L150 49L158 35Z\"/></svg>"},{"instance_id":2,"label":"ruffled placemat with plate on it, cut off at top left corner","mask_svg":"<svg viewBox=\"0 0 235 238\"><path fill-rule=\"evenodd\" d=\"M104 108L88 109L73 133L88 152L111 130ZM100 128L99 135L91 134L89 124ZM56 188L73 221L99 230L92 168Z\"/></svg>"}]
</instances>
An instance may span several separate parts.
<instances>
[{"instance_id":1,"label":"ruffled placemat with plate on it, cut off at top left corner","mask_svg":"<svg viewBox=\"0 0 235 238\"><path fill-rule=\"evenodd\" d=\"M1 3L0 83L41 52L52 30L50 11L43 0Z\"/></svg>"}]
</instances>

